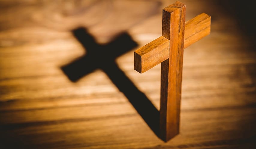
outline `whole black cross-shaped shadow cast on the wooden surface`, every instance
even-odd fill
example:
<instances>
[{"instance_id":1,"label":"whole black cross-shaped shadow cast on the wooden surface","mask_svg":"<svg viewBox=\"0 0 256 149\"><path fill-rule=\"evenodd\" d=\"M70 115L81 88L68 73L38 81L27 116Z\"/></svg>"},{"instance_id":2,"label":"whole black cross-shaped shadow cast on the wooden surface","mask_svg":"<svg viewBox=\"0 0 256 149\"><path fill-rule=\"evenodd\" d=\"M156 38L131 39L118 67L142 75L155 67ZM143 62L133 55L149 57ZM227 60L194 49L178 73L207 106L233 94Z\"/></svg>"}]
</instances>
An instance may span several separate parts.
<instances>
[{"instance_id":1,"label":"whole black cross-shaped shadow cast on the wooden surface","mask_svg":"<svg viewBox=\"0 0 256 149\"><path fill-rule=\"evenodd\" d=\"M87 53L85 56L62 66L62 71L72 82L76 82L95 69L102 69L119 91L127 97L156 136L159 137L159 111L115 62L118 56L135 48L138 44L126 32L104 45L96 43L85 28L78 28L72 32L87 50Z\"/></svg>"}]
</instances>

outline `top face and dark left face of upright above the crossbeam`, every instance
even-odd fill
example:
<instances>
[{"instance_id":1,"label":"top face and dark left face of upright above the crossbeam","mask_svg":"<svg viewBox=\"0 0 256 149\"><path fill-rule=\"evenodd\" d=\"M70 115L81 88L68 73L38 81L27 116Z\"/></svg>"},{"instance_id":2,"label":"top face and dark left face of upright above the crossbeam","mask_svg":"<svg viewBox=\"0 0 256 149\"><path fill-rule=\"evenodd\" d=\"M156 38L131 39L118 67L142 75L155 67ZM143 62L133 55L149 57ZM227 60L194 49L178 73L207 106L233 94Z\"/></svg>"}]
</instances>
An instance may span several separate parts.
<instances>
[{"instance_id":1,"label":"top face and dark left face of upright above the crossbeam","mask_svg":"<svg viewBox=\"0 0 256 149\"><path fill-rule=\"evenodd\" d=\"M170 40L171 13L176 10L183 9L184 7L186 7L185 4L180 1L176 1L163 9L162 36Z\"/></svg>"}]
</instances>

